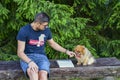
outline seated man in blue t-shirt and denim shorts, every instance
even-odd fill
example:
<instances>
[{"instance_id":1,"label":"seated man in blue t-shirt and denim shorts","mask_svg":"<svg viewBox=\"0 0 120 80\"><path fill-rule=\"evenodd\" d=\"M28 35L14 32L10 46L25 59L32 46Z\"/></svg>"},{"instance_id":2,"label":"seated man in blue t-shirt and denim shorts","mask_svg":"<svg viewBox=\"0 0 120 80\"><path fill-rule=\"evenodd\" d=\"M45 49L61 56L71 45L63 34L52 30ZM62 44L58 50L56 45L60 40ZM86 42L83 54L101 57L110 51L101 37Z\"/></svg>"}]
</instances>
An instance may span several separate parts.
<instances>
[{"instance_id":1,"label":"seated man in blue t-shirt and denim shorts","mask_svg":"<svg viewBox=\"0 0 120 80\"><path fill-rule=\"evenodd\" d=\"M47 80L50 63L46 56L44 47L45 43L55 50L64 52L70 57L75 55L52 39L52 34L48 28L49 16L44 13L38 13L31 24L23 26L18 35L18 49L21 67L30 78L30 80Z\"/></svg>"}]
</instances>

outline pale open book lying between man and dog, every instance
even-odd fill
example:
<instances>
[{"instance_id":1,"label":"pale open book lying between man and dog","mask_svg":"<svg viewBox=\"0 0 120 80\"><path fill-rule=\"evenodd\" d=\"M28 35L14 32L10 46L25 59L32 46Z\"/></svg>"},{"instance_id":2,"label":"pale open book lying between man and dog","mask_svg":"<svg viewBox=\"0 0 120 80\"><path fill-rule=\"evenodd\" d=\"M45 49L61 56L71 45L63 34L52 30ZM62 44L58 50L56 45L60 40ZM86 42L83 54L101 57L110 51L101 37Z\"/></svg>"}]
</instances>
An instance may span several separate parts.
<instances>
[{"instance_id":1,"label":"pale open book lying between man and dog","mask_svg":"<svg viewBox=\"0 0 120 80\"><path fill-rule=\"evenodd\" d=\"M74 67L71 60L57 60L59 67Z\"/></svg>"}]
</instances>

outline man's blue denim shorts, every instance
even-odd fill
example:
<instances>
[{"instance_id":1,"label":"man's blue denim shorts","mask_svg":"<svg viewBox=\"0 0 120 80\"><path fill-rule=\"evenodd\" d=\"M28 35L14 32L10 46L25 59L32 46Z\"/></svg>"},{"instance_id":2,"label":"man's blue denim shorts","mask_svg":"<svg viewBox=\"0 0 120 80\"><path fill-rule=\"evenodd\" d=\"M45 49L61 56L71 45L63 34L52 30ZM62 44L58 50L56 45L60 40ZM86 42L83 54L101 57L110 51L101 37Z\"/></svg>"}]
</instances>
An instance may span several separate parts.
<instances>
[{"instance_id":1,"label":"man's blue denim shorts","mask_svg":"<svg viewBox=\"0 0 120 80\"><path fill-rule=\"evenodd\" d=\"M45 70L48 72L48 74L50 73L50 62L47 56L42 54L27 54L27 56L38 65L39 71ZM23 60L20 60L20 65L25 75L28 77L27 75L28 64Z\"/></svg>"}]
</instances>

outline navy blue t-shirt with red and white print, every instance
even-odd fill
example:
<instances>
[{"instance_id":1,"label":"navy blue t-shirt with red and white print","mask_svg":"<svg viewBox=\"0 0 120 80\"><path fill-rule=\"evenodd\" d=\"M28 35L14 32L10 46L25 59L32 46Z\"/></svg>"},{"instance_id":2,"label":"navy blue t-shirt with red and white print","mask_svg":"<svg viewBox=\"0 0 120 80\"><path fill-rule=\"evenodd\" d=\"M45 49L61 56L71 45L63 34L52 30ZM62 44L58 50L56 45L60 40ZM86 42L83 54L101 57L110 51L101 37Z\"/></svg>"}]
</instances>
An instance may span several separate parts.
<instances>
[{"instance_id":1,"label":"navy blue t-shirt with red and white print","mask_svg":"<svg viewBox=\"0 0 120 80\"><path fill-rule=\"evenodd\" d=\"M30 24L23 26L17 35L17 40L25 42L25 54L37 53L45 55L45 43L52 38L50 29L35 31Z\"/></svg>"}]
</instances>

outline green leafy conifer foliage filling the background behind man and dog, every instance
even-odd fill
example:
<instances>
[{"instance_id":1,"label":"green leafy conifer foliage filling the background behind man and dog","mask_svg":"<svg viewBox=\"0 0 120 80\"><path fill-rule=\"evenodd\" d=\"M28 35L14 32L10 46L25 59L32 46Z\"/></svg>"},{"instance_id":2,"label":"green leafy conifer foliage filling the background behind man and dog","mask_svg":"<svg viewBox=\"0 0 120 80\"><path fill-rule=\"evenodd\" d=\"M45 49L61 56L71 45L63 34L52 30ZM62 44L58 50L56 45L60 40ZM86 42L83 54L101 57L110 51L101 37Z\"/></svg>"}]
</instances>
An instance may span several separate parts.
<instances>
[{"instance_id":1,"label":"green leafy conifer foliage filling the background behind man and dog","mask_svg":"<svg viewBox=\"0 0 120 80\"><path fill-rule=\"evenodd\" d=\"M50 2L51 1L51 2ZM95 57L120 57L119 0L2 0L0 1L0 60L16 60L16 35L38 12L51 21L53 39L73 50L85 45ZM50 59L68 58L46 44Z\"/></svg>"}]
</instances>

